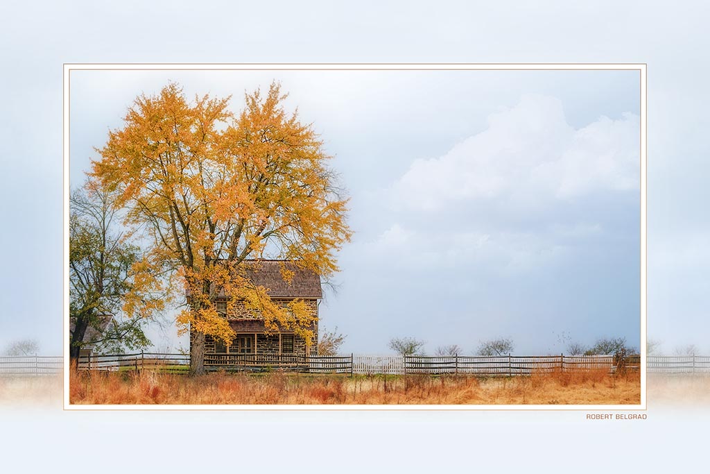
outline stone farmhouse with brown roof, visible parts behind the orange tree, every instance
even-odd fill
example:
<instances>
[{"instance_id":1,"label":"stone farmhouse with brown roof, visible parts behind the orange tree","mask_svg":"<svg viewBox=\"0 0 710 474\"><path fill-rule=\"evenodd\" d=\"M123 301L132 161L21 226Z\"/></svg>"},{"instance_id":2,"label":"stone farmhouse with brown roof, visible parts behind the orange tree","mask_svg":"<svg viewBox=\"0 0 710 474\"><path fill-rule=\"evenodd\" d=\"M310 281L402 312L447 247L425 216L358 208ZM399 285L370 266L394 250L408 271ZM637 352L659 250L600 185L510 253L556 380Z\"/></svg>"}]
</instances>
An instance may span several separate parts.
<instances>
[{"instance_id":1,"label":"stone farmhouse with brown roof, visible parts behind the orange tree","mask_svg":"<svg viewBox=\"0 0 710 474\"><path fill-rule=\"evenodd\" d=\"M293 271L293 278L290 282L283 279L282 266ZM255 315L239 302L228 313L228 295L222 290L215 302L217 312L227 318L236 337L227 347L221 340L206 335L205 354L317 355L318 306L323 298L320 276L314 271L298 268L293 261L261 259L250 262L246 270L246 277L256 286L263 286L268 296L276 303L285 305L294 299L305 301L312 311L312 315L316 317L311 328L313 332L311 345L307 346L303 338L287 328L279 327L278 331L267 331L263 318L258 314ZM192 344L192 338L190 341Z\"/></svg>"}]
</instances>

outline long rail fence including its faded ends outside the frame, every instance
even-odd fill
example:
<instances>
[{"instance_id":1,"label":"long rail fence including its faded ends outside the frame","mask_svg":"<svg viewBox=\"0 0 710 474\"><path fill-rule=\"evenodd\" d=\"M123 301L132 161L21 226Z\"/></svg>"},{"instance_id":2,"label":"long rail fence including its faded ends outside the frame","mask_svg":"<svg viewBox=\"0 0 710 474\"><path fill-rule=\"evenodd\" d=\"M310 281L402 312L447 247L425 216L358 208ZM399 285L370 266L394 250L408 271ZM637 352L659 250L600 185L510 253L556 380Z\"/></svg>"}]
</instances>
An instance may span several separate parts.
<instances>
[{"instance_id":1,"label":"long rail fence including its faded ends outside the frame","mask_svg":"<svg viewBox=\"0 0 710 474\"><path fill-rule=\"evenodd\" d=\"M461 374L477 376L514 376L532 373L573 372L580 370L608 370L617 368L638 370L640 357L631 355L622 361L612 355L503 355L481 356L397 356L349 354L337 356L255 355L255 354L205 354L206 370L270 371L288 370L308 373L340 374ZM53 375L62 372L62 357L58 356L0 356L0 376ZM125 370L155 370L158 372L185 373L190 368L190 355L136 352L80 357L82 370L118 372ZM710 374L710 356L649 355L648 372L667 374Z\"/></svg>"}]
</instances>

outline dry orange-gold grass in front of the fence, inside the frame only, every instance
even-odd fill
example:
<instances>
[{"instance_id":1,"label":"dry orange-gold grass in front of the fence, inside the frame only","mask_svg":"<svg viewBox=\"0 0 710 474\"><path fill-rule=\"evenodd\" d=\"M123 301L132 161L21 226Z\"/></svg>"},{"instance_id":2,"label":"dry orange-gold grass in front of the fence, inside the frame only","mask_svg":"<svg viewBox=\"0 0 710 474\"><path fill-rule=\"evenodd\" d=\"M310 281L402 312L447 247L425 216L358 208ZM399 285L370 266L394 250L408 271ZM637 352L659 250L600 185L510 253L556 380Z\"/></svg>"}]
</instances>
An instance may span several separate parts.
<instances>
[{"instance_id":1,"label":"dry orange-gold grass in front of the fence, inside the frame only","mask_svg":"<svg viewBox=\"0 0 710 474\"><path fill-rule=\"evenodd\" d=\"M86 373L70 377L71 404L638 404L638 374L563 372L530 377L305 376L222 372Z\"/></svg>"}]
</instances>

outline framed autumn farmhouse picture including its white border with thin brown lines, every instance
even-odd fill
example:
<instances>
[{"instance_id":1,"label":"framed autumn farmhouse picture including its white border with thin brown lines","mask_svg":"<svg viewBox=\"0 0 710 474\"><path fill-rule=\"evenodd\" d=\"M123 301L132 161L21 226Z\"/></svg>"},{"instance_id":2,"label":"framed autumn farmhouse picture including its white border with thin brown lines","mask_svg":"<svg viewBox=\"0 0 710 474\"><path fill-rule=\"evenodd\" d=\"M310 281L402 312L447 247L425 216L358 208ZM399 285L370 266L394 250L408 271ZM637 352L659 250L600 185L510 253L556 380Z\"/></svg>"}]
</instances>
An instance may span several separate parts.
<instances>
[{"instance_id":1,"label":"framed autumn farmhouse picture including its white border with thin brown lines","mask_svg":"<svg viewBox=\"0 0 710 474\"><path fill-rule=\"evenodd\" d=\"M65 65L65 409L645 409L645 87Z\"/></svg>"}]
</instances>

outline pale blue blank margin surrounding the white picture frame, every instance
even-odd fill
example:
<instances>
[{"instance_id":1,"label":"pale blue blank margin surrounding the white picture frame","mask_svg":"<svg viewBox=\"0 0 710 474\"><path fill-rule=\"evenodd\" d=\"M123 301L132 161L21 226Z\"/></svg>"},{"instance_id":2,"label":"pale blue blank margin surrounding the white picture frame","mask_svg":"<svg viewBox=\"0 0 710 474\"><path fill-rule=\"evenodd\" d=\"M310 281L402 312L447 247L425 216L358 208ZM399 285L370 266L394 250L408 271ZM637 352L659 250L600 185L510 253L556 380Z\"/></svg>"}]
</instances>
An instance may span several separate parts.
<instances>
[{"instance_id":1,"label":"pale blue blank margin surrounding the white picture frame","mask_svg":"<svg viewBox=\"0 0 710 474\"><path fill-rule=\"evenodd\" d=\"M48 321L59 316L62 301L62 63L645 62L649 333L667 341L667 350L696 343L710 351L705 60L710 38L704 2L36 2L3 10L3 338L12 331L11 338L28 333L45 340L59 328ZM678 414L650 406L648 421L624 425L592 424L580 413L126 415L26 408L3 419L9 424L0 438L11 453L4 465L12 470L28 465L60 470L76 458L72 455L107 472L134 468L136 460L146 470L175 463L187 468L196 466L192 453L204 450L236 450L253 468L270 462L285 466L307 452L300 441L317 441L322 451L310 467L344 472L498 469L501 462L510 469L574 463L578 472L598 472L600 465L628 470L642 463L656 472L697 464L708 416L701 407ZM201 438L194 451L178 450L175 456L176 446L187 446L185 436L193 430L211 433L212 441ZM298 442L284 444L274 456L261 442L274 430ZM146 439L139 444L145 448L109 461L116 458L116 446L136 446L118 438L128 433ZM114 442L99 442L111 436ZM500 440L516 436L528 443L511 454ZM45 446L41 456L31 440ZM664 449L648 449L659 440L667 443ZM367 455L338 453L349 444ZM421 454L432 446L447 453ZM579 446L585 446L584 453L576 453Z\"/></svg>"}]
</instances>

